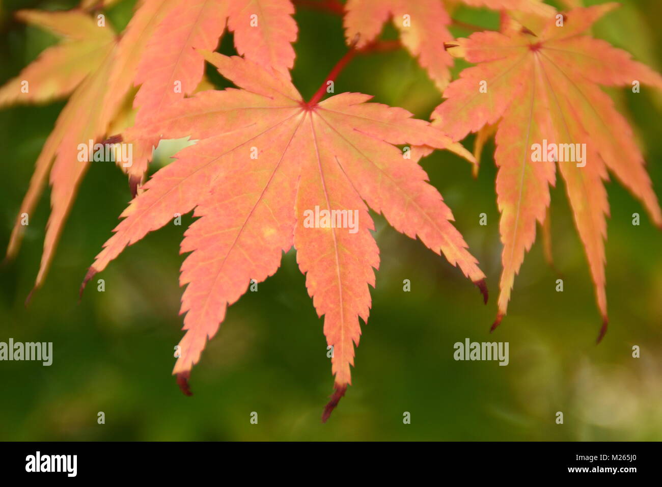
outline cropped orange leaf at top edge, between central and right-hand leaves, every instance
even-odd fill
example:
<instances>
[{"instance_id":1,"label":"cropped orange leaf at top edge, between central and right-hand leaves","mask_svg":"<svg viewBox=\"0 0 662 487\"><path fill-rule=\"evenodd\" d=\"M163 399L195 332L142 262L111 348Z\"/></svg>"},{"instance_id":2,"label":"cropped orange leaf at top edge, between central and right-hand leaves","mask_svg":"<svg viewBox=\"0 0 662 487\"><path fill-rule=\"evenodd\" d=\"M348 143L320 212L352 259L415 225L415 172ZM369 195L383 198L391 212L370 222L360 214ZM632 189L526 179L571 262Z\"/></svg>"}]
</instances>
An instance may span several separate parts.
<instances>
[{"instance_id":1,"label":"cropped orange leaf at top edge, between central and right-hand leaves","mask_svg":"<svg viewBox=\"0 0 662 487\"><path fill-rule=\"evenodd\" d=\"M551 16L551 5L542 0L463 0L473 7L508 9ZM443 91L450 81L449 68L453 58L440 48L453 39L448 30L451 17L442 0L348 0L344 17L345 34L349 44L358 48L373 42L384 23L393 17L393 25L400 33L402 45L418 57L430 79Z\"/></svg>"}]
</instances>

